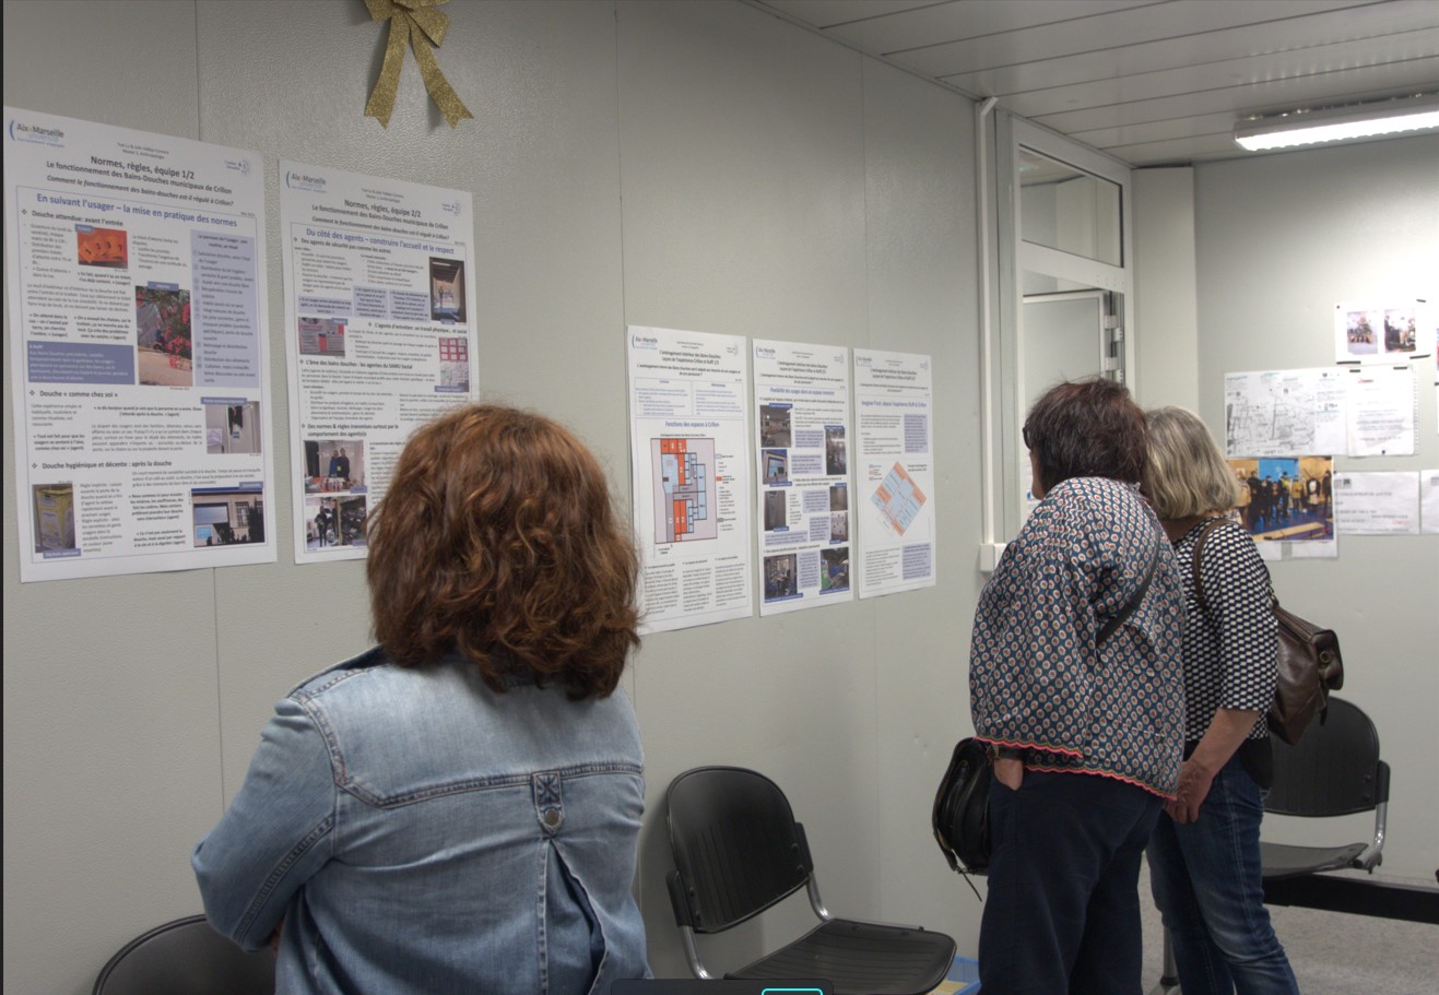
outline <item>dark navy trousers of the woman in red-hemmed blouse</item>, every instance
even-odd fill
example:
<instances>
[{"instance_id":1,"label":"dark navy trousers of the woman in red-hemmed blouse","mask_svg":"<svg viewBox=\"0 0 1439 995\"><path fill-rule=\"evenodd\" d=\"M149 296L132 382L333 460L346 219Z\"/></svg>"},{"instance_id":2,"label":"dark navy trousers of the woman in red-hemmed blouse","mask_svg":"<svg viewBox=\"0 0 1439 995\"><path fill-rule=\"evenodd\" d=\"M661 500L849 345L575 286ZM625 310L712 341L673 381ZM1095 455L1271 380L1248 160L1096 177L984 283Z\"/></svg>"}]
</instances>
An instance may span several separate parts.
<instances>
[{"instance_id":1,"label":"dark navy trousers of the woman in red-hemmed blouse","mask_svg":"<svg viewBox=\"0 0 1439 995\"><path fill-rule=\"evenodd\" d=\"M1158 795L1112 778L993 781L983 991L1140 995L1140 860L1157 818Z\"/></svg>"}]
</instances>

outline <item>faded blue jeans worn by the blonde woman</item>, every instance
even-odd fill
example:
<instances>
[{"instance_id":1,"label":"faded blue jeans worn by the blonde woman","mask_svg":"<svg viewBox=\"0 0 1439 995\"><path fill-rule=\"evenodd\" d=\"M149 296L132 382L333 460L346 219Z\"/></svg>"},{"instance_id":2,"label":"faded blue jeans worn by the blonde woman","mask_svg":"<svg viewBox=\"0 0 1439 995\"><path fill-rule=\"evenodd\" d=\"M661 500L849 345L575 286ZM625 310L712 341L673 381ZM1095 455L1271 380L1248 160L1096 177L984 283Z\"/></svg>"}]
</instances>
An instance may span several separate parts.
<instances>
[{"instance_id":1,"label":"faded blue jeans worn by the blonde woman","mask_svg":"<svg viewBox=\"0 0 1439 995\"><path fill-rule=\"evenodd\" d=\"M1161 815L1154 830L1150 884L1184 995L1299 992L1263 906L1261 818L1263 792L1233 756L1196 821Z\"/></svg>"}]
</instances>

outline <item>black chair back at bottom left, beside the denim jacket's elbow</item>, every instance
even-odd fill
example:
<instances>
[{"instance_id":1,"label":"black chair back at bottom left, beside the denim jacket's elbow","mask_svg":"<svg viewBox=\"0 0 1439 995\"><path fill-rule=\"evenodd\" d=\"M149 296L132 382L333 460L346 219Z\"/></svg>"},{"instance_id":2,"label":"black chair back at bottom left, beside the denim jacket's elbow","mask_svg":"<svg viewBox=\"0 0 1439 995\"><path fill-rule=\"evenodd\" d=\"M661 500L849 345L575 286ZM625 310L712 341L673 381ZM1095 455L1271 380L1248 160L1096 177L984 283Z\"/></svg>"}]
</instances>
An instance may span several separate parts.
<instances>
[{"instance_id":1,"label":"black chair back at bottom left, beside the denim jacket's elbow","mask_svg":"<svg viewBox=\"0 0 1439 995\"><path fill-rule=\"evenodd\" d=\"M275 955L246 953L204 916L155 926L101 968L91 995L273 995Z\"/></svg>"}]
</instances>

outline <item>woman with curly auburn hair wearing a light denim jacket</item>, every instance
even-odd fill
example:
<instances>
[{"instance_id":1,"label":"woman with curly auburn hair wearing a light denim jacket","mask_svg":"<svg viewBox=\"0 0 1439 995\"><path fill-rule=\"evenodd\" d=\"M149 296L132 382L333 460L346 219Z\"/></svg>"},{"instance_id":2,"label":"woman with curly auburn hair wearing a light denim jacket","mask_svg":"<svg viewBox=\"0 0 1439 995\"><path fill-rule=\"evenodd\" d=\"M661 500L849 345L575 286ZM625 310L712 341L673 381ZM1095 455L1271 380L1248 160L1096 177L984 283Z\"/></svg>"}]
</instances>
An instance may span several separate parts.
<instances>
[{"instance_id":1,"label":"woman with curly auburn hair wearing a light denim jacket","mask_svg":"<svg viewBox=\"0 0 1439 995\"><path fill-rule=\"evenodd\" d=\"M193 864L210 923L285 994L584 995L649 976L620 674L633 545L555 423L419 428L371 515L378 646L275 709Z\"/></svg>"}]
</instances>

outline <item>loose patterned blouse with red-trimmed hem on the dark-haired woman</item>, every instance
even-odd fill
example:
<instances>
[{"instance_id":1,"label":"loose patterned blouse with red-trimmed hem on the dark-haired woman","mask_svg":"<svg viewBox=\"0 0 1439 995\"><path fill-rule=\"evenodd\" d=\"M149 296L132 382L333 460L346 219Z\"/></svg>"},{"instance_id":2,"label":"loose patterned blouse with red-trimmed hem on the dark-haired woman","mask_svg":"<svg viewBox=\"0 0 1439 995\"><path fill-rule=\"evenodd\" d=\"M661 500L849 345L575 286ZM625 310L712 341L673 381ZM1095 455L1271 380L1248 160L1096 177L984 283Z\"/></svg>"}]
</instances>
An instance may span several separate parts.
<instances>
[{"instance_id":1,"label":"loose patterned blouse with red-trimmed hem on the dark-haired woman","mask_svg":"<svg viewBox=\"0 0 1439 995\"><path fill-rule=\"evenodd\" d=\"M1102 647L1095 637L1138 590ZM984 585L970 646L976 738L1030 751L1033 769L1098 774L1161 797L1183 748L1183 595L1170 544L1131 486L1050 490Z\"/></svg>"}]
</instances>

